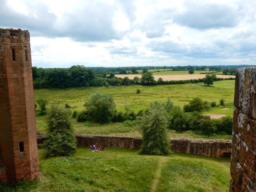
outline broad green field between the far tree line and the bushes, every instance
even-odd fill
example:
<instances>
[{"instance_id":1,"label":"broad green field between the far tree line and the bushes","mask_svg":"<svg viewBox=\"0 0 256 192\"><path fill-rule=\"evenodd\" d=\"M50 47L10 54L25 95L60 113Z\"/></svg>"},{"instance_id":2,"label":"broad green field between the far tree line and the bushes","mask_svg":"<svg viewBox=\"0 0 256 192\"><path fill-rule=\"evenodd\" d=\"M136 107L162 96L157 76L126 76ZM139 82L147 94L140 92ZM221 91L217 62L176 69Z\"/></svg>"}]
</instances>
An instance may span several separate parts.
<instances>
[{"instance_id":1,"label":"broad green field between the far tree line and the bushes","mask_svg":"<svg viewBox=\"0 0 256 192\"><path fill-rule=\"evenodd\" d=\"M149 106L150 102L166 102L169 98L175 105L184 106L192 98L199 97L208 102L219 103L224 99L227 106L233 108L234 100L234 80L224 80L214 82L213 86L198 84L177 84L177 85L156 85L156 86L110 86L106 87L86 87L70 89L36 89L34 90L35 100L44 98L49 105L57 104L64 106L66 103L71 106L71 110L82 111L84 103L91 94L99 92L113 96L117 110L124 111L125 106L138 112ZM140 89L141 93L136 94Z\"/></svg>"}]
</instances>

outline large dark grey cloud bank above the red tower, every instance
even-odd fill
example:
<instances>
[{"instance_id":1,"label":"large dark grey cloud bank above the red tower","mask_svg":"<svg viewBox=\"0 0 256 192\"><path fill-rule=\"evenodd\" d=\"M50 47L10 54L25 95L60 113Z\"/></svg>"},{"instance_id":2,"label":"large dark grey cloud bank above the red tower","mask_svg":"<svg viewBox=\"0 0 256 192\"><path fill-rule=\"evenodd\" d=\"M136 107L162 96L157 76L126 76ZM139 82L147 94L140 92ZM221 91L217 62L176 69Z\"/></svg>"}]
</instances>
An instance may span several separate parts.
<instances>
[{"instance_id":1,"label":"large dark grey cloud bank above the red tower","mask_svg":"<svg viewBox=\"0 0 256 192\"><path fill-rule=\"evenodd\" d=\"M3 0L0 6L0 26L29 30L31 36L70 37L76 41L108 41L122 37L112 27L115 5L86 1L80 11L58 20L45 4L27 4L28 9L36 13L37 17L33 18L32 14L15 12L6 2Z\"/></svg>"}]
</instances>

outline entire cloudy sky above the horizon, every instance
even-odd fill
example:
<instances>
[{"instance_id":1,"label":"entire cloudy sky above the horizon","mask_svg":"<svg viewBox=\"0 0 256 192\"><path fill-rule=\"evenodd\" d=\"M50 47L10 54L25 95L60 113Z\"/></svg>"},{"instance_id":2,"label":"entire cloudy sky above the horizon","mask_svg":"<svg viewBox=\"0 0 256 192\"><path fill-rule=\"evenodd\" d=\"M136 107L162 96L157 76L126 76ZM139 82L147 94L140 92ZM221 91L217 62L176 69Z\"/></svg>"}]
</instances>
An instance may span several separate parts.
<instances>
[{"instance_id":1,"label":"entire cloudy sky above the horizon","mask_svg":"<svg viewBox=\"0 0 256 192\"><path fill-rule=\"evenodd\" d=\"M0 27L43 68L256 64L255 0L0 0Z\"/></svg>"}]
</instances>

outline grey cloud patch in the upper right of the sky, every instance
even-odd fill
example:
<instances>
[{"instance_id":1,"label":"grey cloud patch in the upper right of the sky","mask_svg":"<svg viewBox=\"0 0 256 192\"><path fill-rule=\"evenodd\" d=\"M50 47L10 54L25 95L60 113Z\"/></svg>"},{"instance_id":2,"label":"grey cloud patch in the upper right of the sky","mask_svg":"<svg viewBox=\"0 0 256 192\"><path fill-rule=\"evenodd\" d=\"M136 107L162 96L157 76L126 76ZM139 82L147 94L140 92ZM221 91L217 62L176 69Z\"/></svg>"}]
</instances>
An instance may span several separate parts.
<instances>
[{"instance_id":1,"label":"grey cloud patch in the upper right of the sky","mask_svg":"<svg viewBox=\"0 0 256 192\"><path fill-rule=\"evenodd\" d=\"M236 26L238 22L238 10L230 6L198 2L189 2L185 6L186 12L174 14L173 22L200 30L230 28Z\"/></svg>"}]
</instances>

